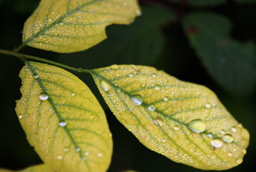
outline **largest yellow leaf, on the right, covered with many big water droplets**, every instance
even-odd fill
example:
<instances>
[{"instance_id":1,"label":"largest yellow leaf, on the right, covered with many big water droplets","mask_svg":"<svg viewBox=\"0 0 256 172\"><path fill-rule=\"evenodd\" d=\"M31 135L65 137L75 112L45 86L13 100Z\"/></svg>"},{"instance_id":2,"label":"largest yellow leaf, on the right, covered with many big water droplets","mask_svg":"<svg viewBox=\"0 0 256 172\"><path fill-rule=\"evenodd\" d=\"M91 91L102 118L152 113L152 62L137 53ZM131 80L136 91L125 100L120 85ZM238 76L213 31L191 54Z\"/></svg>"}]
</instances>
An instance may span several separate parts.
<instances>
[{"instance_id":1,"label":"largest yellow leaf, on the right, covered with many big water droplets","mask_svg":"<svg viewBox=\"0 0 256 172\"><path fill-rule=\"evenodd\" d=\"M92 70L116 118L150 150L200 169L243 161L249 133L205 86L148 66Z\"/></svg>"}]
</instances>

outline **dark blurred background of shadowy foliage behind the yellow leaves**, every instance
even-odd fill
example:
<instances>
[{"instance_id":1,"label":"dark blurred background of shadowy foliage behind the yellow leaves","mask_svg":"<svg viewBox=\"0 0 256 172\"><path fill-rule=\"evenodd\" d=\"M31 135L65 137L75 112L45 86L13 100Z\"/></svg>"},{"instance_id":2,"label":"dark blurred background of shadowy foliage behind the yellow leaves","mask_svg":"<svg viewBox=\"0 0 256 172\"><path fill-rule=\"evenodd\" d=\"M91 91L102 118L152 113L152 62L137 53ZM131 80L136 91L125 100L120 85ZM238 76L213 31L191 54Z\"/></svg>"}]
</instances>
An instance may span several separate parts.
<instances>
[{"instance_id":1,"label":"dark blurred background of shadowy foliage behind the yellow leaves","mask_svg":"<svg viewBox=\"0 0 256 172\"><path fill-rule=\"evenodd\" d=\"M21 44L22 27L39 0L0 0L0 49ZM150 65L184 81L211 88L228 111L250 131L244 162L228 171L254 169L256 158L256 0L141 0L143 14L130 26L109 26L109 38L92 49L57 54L31 47L22 53L74 67ZM15 114L20 98L19 59L0 54L0 167L22 169L42 162L26 140ZM113 133L109 172L201 171L152 152L109 111L92 77L78 75L99 98ZM254 145L254 146L253 146Z\"/></svg>"}]
</instances>

